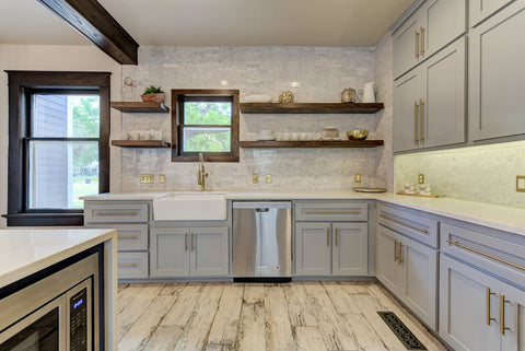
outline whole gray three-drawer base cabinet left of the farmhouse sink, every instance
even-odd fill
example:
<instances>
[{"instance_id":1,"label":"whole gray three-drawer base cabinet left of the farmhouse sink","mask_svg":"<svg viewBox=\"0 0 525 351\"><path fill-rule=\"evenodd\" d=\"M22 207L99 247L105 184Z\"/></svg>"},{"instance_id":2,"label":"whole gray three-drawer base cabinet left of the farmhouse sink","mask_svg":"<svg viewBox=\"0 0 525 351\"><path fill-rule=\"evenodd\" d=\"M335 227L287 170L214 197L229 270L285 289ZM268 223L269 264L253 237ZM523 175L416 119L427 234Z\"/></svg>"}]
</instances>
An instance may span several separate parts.
<instances>
[{"instance_id":1,"label":"whole gray three-drawer base cabinet left of the farmhouse sink","mask_svg":"<svg viewBox=\"0 0 525 351\"><path fill-rule=\"evenodd\" d=\"M149 219L148 201L85 200L86 227L117 230L118 279L147 279L149 277Z\"/></svg>"}]
</instances>

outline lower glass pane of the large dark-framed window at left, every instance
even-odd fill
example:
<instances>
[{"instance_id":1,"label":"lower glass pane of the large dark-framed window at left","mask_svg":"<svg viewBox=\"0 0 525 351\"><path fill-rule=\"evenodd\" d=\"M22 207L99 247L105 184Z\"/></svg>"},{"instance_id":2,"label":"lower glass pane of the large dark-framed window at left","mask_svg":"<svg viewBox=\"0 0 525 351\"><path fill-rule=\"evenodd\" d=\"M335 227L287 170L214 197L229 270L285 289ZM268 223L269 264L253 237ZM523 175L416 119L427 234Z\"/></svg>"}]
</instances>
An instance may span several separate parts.
<instances>
[{"instance_id":1,"label":"lower glass pane of the large dark-framed window at left","mask_svg":"<svg viewBox=\"0 0 525 351\"><path fill-rule=\"evenodd\" d=\"M97 141L31 141L30 209L81 209L98 194Z\"/></svg>"}]
</instances>

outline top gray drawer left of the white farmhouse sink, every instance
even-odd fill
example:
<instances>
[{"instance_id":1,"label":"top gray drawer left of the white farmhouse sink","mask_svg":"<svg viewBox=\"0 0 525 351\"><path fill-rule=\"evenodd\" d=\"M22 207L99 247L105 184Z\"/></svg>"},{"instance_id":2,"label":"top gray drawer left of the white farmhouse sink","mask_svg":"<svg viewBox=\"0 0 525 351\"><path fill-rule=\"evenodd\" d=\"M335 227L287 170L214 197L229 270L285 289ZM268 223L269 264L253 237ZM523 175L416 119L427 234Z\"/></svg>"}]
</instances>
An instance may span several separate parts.
<instances>
[{"instance_id":1,"label":"top gray drawer left of the white farmhouse sink","mask_svg":"<svg viewBox=\"0 0 525 351\"><path fill-rule=\"evenodd\" d=\"M140 223L148 222L148 203L85 203L85 223Z\"/></svg>"}]
</instances>

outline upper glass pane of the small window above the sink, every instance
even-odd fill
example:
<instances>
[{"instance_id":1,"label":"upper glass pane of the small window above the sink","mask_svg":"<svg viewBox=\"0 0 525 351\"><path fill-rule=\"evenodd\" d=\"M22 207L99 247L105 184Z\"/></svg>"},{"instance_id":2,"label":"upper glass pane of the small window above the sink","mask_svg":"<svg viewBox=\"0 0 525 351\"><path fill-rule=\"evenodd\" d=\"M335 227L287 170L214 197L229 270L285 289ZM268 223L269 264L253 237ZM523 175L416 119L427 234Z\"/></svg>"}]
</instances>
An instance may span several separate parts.
<instances>
[{"instance_id":1,"label":"upper glass pane of the small window above the sink","mask_svg":"<svg viewBox=\"0 0 525 351\"><path fill-rule=\"evenodd\" d=\"M232 122L231 103L185 102L185 125L230 126Z\"/></svg>"}]
</instances>

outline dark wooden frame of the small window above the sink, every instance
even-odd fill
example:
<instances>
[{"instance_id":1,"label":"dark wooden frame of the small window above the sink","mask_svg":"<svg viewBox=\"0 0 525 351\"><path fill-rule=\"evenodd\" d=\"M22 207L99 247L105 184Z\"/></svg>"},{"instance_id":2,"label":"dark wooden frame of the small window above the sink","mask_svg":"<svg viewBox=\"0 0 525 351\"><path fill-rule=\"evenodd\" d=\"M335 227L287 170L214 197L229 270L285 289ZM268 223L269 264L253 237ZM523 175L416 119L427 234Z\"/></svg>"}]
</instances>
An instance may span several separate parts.
<instances>
[{"instance_id":1,"label":"dark wooden frame of the small window above the sink","mask_svg":"<svg viewBox=\"0 0 525 351\"><path fill-rule=\"evenodd\" d=\"M209 98L207 96L209 95ZM238 121L240 121L240 101L238 90L209 90L209 89L184 89L172 90L172 162L198 162L198 153L184 153L179 145L182 144L183 127L191 127L192 125L184 125L183 110L184 101L210 101L215 102L224 97L224 101L232 102L232 124L230 126L213 125L212 127L231 128L231 152L206 152L205 161L207 162L238 162ZM206 127L198 125L195 127Z\"/></svg>"}]
</instances>

